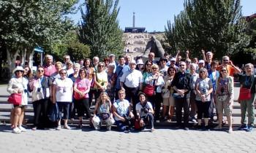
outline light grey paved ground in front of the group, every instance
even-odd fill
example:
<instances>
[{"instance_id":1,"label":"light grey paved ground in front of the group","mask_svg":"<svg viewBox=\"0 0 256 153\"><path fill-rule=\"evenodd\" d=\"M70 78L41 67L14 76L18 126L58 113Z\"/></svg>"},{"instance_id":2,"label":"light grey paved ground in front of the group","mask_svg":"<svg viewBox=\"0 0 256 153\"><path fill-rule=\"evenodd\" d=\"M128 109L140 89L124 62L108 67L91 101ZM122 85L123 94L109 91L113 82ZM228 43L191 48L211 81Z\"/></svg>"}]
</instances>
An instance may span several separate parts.
<instances>
[{"instance_id":1,"label":"light grey paved ground in front of the group","mask_svg":"<svg viewBox=\"0 0 256 153\"><path fill-rule=\"evenodd\" d=\"M6 87L0 87L5 95ZM8 94L7 94L8 95ZM28 130L11 133L9 124L0 124L0 152L256 152L256 131L246 132L234 128L201 131L156 126L156 130L121 133L96 131L85 126L71 125L72 130Z\"/></svg>"}]
</instances>

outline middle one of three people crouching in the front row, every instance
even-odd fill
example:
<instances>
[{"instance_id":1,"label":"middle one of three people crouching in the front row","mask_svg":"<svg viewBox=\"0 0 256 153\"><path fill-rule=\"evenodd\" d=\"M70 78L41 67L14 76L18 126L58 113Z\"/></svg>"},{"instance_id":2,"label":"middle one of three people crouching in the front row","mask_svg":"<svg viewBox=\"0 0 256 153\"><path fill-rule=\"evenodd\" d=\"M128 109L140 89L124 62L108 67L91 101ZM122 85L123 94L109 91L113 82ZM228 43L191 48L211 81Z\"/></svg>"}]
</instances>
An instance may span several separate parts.
<instances>
[{"instance_id":1,"label":"middle one of three people crouching in the front row","mask_svg":"<svg viewBox=\"0 0 256 153\"><path fill-rule=\"evenodd\" d=\"M132 114L132 109L129 101L125 98L125 91L118 91L118 100L113 103L113 115L116 120L116 125L119 131L129 133L132 130L132 125L134 122L134 114Z\"/></svg>"}]
</instances>

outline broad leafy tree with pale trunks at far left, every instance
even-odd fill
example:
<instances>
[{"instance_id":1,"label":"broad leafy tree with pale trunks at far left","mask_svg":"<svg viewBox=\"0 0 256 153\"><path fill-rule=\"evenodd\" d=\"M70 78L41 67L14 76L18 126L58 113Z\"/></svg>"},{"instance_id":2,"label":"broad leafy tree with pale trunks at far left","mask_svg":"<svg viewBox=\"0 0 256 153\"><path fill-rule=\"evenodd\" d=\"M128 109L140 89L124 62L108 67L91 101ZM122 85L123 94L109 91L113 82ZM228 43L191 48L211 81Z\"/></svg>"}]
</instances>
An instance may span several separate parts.
<instances>
[{"instance_id":1,"label":"broad leafy tree with pale trunks at far left","mask_svg":"<svg viewBox=\"0 0 256 153\"><path fill-rule=\"evenodd\" d=\"M7 50L10 71L18 56L31 61L34 47L47 47L72 27L67 13L78 0L0 1L0 43Z\"/></svg>"}]
</instances>

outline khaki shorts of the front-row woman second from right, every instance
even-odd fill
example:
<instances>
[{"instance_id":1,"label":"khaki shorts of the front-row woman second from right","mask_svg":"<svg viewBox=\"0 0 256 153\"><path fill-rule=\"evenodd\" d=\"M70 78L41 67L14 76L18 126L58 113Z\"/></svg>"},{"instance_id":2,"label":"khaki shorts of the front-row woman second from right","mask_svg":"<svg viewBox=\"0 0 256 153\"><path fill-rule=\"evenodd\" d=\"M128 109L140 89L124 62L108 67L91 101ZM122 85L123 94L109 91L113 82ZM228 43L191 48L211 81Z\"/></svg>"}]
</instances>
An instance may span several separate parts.
<instances>
[{"instance_id":1,"label":"khaki shorts of the front-row woman second from right","mask_svg":"<svg viewBox=\"0 0 256 153\"><path fill-rule=\"evenodd\" d=\"M232 116L232 109L233 106L228 106L228 102L230 101L230 98L227 97L227 99L225 101L220 101L218 96L216 98L216 108L218 113L223 113L223 109L224 109L224 113L226 116Z\"/></svg>"}]
</instances>

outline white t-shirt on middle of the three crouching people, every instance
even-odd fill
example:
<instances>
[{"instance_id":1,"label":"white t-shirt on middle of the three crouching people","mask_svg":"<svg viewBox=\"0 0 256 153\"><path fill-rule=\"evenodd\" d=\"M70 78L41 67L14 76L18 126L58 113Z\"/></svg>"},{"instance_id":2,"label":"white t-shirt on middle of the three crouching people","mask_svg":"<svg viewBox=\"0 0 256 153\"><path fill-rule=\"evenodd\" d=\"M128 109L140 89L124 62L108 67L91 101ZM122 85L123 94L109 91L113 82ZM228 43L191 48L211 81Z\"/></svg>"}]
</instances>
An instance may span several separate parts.
<instances>
[{"instance_id":1,"label":"white t-shirt on middle of the three crouching people","mask_svg":"<svg viewBox=\"0 0 256 153\"><path fill-rule=\"evenodd\" d=\"M116 112L121 117L124 117L124 114L129 113L129 101L124 99L123 101L120 101L119 99L113 103L113 106L116 108ZM120 120L118 117L115 116L116 120Z\"/></svg>"}]
</instances>

